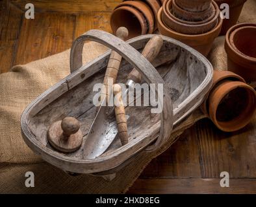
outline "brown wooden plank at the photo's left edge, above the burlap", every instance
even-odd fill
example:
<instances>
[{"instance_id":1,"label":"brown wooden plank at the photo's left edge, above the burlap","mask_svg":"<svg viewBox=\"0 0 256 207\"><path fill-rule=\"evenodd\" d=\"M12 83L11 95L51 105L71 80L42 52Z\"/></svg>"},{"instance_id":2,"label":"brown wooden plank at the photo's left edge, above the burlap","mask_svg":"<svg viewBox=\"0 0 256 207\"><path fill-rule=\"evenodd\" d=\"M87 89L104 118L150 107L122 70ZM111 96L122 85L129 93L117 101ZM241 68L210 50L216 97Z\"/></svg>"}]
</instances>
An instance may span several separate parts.
<instances>
[{"instance_id":1,"label":"brown wooden plank at the photo's left edge, above the burlap","mask_svg":"<svg viewBox=\"0 0 256 207\"><path fill-rule=\"evenodd\" d=\"M13 65L22 20L22 12L7 1L0 2L0 74Z\"/></svg>"}]
</instances>

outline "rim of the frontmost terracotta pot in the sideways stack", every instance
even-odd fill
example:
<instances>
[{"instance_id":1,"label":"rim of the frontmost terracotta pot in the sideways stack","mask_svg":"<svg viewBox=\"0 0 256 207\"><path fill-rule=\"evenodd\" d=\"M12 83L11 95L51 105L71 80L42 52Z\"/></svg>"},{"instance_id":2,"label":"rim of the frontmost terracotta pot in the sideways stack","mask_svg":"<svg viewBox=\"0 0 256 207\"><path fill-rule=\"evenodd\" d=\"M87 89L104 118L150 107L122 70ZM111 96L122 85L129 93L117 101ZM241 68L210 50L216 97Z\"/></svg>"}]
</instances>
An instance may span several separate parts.
<instances>
[{"instance_id":1,"label":"rim of the frontmost terracotta pot in the sideways stack","mask_svg":"<svg viewBox=\"0 0 256 207\"><path fill-rule=\"evenodd\" d=\"M120 6L118 8L116 8L111 16L110 16L110 27L113 30L112 27L112 16L116 11L120 11L120 10L126 10L128 12L131 12L131 14L134 14L134 16L136 16L136 18L138 19L139 23L140 23L140 27L141 27L141 34L146 34L148 28L147 25L145 24L146 19L144 18L144 16L141 14L141 12L139 10L136 10L135 8L131 7L131 6ZM113 30L114 32L114 30ZM130 35L129 35L130 36ZM133 36L132 36L133 37Z\"/></svg>"}]
</instances>

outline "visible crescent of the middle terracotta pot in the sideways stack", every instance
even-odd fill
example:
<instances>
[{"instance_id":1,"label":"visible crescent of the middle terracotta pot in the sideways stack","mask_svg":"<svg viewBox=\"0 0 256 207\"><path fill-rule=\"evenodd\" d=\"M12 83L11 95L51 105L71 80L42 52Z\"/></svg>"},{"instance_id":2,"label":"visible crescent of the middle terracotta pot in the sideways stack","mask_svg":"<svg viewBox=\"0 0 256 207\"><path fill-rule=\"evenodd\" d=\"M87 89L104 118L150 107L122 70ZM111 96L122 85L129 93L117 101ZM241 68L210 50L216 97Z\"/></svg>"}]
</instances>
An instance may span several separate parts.
<instances>
[{"instance_id":1,"label":"visible crescent of the middle terracotta pot in the sideways stack","mask_svg":"<svg viewBox=\"0 0 256 207\"><path fill-rule=\"evenodd\" d=\"M116 8L119 8L120 6L131 6L133 8L136 8L136 10L139 10L147 19L147 24L149 28L147 33L153 33L155 17L153 11L146 3L144 3L143 1L124 1L123 3L120 3L120 5L116 6Z\"/></svg>"}]
</instances>

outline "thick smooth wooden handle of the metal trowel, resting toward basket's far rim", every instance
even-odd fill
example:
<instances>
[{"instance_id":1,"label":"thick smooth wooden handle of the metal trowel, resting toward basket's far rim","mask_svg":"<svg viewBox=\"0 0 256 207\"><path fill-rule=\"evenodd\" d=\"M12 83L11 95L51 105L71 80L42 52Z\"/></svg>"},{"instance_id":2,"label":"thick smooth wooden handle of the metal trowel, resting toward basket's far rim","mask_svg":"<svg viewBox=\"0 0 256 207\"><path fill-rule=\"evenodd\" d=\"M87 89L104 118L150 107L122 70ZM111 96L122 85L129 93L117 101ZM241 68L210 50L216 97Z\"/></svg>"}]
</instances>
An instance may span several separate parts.
<instances>
[{"instance_id":1,"label":"thick smooth wooden handle of the metal trowel, resting toward basket's far rim","mask_svg":"<svg viewBox=\"0 0 256 207\"><path fill-rule=\"evenodd\" d=\"M152 62L159 54L162 44L162 38L160 36L154 36L147 42L144 50L142 51L142 55L149 62ZM135 83L140 83L142 81L142 75L136 69L133 69L133 71L131 71L128 75L128 80L133 80Z\"/></svg>"}]
</instances>

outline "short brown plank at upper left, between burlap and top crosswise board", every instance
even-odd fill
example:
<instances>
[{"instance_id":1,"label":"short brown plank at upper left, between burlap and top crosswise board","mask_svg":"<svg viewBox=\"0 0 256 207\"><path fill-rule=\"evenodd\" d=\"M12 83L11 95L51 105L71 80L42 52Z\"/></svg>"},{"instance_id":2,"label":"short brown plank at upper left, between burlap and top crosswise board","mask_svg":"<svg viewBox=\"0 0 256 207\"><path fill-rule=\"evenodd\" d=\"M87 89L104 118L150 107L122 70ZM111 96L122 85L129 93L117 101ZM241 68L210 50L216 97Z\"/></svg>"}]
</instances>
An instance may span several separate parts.
<instances>
[{"instance_id":1,"label":"short brown plank at upper left, between burlap and top crosswise board","mask_svg":"<svg viewBox=\"0 0 256 207\"><path fill-rule=\"evenodd\" d=\"M14 64L24 64L69 49L73 40L75 16L35 14L23 19Z\"/></svg>"}]
</instances>

